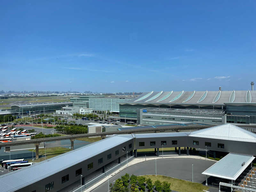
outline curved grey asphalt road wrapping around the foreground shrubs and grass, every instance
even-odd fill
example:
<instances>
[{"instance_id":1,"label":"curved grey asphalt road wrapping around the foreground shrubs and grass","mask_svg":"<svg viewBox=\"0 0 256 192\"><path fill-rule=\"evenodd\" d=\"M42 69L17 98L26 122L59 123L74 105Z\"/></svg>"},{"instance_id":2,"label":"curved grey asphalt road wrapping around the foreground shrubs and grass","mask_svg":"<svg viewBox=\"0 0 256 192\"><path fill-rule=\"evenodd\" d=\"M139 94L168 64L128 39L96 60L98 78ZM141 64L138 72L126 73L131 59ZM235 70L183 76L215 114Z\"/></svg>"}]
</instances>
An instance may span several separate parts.
<instances>
[{"instance_id":1,"label":"curved grey asphalt road wrapping around the foreground shrubs and grass","mask_svg":"<svg viewBox=\"0 0 256 192\"><path fill-rule=\"evenodd\" d=\"M132 165L119 172L115 176L109 179L109 184L113 183L115 180L120 178L125 173L130 175L165 175L173 178L192 180L192 164L194 167L194 182L203 183L205 181L205 176L202 175L206 169L212 166L215 162L200 160L200 159L188 159L188 158L167 158L158 159L156 162L146 161L139 164ZM93 192L107 192L108 191L108 181L92 190Z\"/></svg>"}]
</instances>

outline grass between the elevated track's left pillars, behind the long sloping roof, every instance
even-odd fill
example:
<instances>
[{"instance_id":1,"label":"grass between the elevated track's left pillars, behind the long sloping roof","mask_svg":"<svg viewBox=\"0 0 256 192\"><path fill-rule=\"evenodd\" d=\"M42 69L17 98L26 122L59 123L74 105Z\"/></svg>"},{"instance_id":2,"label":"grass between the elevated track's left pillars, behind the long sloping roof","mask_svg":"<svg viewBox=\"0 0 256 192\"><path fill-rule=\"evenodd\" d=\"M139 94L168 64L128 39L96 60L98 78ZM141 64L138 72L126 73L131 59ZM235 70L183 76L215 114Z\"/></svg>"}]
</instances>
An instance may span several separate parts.
<instances>
[{"instance_id":1,"label":"grass between the elevated track's left pillars, behind the long sloping roof","mask_svg":"<svg viewBox=\"0 0 256 192\"><path fill-rule=\"evenodd\" d=\"M33 149L29 149L29 151L32 151ZM55 157L57 155L61 155L63 153L66 153L70 151L71 149L64 148L64 147L52 147L52 148L47 148L46 144L46 159L50 159L52 157ZM39 149L39 157L42 155L41 158L34 160L34 162L41 162L44 161L44 148ZM36 150L34 150L34 158L36 157ZM32 160L29 160L28 162L32 162Z\"/></svg>"}]
</instances>

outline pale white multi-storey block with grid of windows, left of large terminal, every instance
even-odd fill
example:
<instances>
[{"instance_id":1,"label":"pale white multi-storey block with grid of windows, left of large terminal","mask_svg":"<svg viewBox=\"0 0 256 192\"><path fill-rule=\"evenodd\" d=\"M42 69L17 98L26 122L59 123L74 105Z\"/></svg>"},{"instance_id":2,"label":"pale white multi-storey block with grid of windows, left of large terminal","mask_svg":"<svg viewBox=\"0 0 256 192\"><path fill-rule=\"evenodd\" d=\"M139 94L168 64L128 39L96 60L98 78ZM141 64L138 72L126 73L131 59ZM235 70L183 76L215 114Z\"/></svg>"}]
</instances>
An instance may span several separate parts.
<instances>
[{"instance_id":1,"label":"pale white multi-storey block with grid of windows, left of large terminal","mask_svg":"<svg viewBox=\"0 0 256 192\"><path fill-rule=\"evenodd\" d=\"M119 113L119 103L128 102L134 98L98 97L89 98L89 108L93 111L109 111Z\"/></svg>"}]
</instances>

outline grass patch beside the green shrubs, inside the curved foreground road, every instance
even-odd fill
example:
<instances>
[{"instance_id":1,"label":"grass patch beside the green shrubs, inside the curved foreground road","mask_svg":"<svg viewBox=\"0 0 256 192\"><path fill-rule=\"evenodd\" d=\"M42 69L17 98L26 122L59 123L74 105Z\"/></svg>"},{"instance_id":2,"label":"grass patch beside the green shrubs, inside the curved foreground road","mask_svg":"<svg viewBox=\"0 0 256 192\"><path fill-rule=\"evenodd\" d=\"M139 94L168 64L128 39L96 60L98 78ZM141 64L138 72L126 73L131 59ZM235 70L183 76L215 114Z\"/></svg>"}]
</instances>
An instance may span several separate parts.
<instances>
[{"instance_id":1,"label":"grass patch beside the green shrubs, inside the curved foreground road","mask_svg":"<svg viewBox=\"0 0 256 192\"><path fill-rule=\"evenodd\" d=\"M171 189L179 192L198 192L203 190L208 190L209 187L202 185L201 183L192 183L190 181L185 181L181 179L176 179L172 177L167 177L163 175L142 175L146 179L150 178L153 182L160 180L161 182L167 181L171 183Z\"/></svg>"}]
</instances>

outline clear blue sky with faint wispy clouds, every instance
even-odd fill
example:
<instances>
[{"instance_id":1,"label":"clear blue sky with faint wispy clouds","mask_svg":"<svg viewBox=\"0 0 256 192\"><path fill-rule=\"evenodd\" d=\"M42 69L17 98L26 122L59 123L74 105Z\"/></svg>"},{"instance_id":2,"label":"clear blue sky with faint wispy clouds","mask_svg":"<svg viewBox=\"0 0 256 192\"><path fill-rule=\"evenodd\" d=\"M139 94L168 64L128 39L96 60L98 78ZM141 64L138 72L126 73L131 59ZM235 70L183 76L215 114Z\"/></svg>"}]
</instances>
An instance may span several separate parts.
<instances>
[{"instance_id":1,"label":"clear blue sky with faint wispy clouds","mask_svg":"<svg viewBox=\"0 0 256 192\"><path fill-rule=\"evenodd\" d=\"M248 90L256 1L2 1L1 90Z\"/></svg>"}]
</instances>

